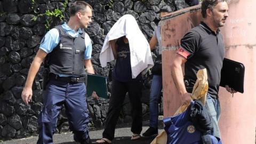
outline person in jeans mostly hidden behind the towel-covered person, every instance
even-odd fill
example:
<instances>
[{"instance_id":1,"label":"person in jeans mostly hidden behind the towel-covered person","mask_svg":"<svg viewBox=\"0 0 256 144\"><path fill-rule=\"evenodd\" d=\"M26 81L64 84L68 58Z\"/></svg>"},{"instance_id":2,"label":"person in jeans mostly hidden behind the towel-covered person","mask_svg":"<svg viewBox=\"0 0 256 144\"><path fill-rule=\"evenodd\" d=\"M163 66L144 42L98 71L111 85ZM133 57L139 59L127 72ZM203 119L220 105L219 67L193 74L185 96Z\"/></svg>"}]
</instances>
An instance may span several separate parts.
<instances>
[{"instance_id":1,"label":"person in jeans mostly hidden behind the towel-covered person","mask_svg":"<svg viewBox=\"0 0 256 144\"><path fill-rule=\"evenodd\" d=\"M160 17L163 17L164 15L170 12L172 12L171 7L168 5L164 5L160 9ZM161 26L158 25L155 28L153 37L150 39L149 45L150 45L150 50L152 51L156 48L156 45L158 43L157 60L159 61L162 61L162 42L161 41L162 41ZM161 64L155 63L154 67L157 67L157 65L162 65L162 63ZM145 137L150 137L158 134L158 114L159 114L158 102L159 102L162 87L163 87L162 67L159 66L159 68L156 68L157 71L154 71L153 73L153 81L150 88L150 98L149 98L149 114L150 114L149 128L147 129L146 132L142 134Z\"/></svg>"}]
</instances>

